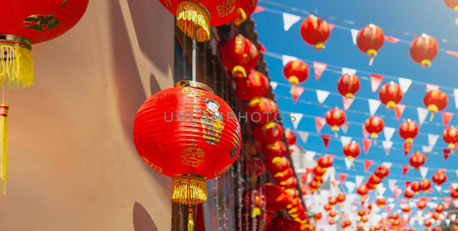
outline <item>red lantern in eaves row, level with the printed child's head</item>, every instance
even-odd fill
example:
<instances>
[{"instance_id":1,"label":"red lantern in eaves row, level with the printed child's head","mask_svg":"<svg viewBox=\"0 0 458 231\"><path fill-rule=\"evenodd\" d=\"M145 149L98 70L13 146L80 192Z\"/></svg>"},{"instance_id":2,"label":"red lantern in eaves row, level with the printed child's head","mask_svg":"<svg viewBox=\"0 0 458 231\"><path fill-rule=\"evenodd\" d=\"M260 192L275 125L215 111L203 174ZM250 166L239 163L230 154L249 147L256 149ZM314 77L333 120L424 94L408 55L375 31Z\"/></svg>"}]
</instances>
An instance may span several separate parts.
<instances>
[{"instance_id":1,"label":"red lantern in eaves row, level with the printed child's head","mask_svg":"<svg viewBox=\"0 0 458 231\"><path fill-rule=\"evenodd\" d=\"M272 99L253 97L245 107L245 112L255 124L265 124L275 119L278 113L278 106Z\"/></svg>"}]
</instances>

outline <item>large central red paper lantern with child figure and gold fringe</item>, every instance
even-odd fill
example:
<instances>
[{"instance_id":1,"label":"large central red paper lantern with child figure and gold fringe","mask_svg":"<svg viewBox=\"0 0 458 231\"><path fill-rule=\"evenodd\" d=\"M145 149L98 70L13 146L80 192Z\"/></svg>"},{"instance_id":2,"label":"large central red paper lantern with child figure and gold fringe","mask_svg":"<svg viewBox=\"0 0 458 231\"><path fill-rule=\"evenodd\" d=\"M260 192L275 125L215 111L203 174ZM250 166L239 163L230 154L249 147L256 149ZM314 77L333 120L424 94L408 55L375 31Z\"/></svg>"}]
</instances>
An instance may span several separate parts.
<instances>
[{"instance_id":1,"label":"large central red paper lantern with child figure and gold fringe","mask_svg":"<svg viewBox=\"0 0 458 231\"><path fill-rule=\"evenodd\" d=\"M176 118L178 113L185 119ZM174 202L206 201L207 180L234 163L242 138L239 122L230 116L233 113L210 87L194 81L159 91L138 109L133 132L136 149L148 166L173 178Z\"/></svg>"}]
</instances>

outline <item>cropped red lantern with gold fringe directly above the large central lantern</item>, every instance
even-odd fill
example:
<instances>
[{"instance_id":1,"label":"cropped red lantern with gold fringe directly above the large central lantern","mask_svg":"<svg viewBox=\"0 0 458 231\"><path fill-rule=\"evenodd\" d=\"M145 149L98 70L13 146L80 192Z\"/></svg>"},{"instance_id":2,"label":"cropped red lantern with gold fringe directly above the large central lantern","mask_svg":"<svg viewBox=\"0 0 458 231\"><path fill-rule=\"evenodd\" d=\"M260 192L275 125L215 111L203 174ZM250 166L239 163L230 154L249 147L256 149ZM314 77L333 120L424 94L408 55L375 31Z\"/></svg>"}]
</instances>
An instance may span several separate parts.
<instances>
[{"instance_id":1,"label":"cropped red lantern with gold fringe directly above the large central lantern","mask_svg":"<svg viewBox=\"0 0 458 231\"><path fill-rule=\"evenodd\" d=\"M197 41L210 40L210 26L218 27L234 18L235 0L159 0L176 16L176 25L188 37L196 26Z\"/></svg>"}]
</instances>

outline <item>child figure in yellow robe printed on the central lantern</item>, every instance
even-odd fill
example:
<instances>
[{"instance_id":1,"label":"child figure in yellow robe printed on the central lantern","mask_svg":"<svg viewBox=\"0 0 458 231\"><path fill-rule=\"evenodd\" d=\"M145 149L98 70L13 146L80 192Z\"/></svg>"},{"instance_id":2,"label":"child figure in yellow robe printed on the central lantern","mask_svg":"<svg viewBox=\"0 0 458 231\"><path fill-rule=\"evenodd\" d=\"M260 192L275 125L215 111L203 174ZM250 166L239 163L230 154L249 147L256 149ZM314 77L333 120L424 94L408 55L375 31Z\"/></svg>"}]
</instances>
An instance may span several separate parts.
<instances>
[{"instance_id":1,"label":"child figure in yellow robe printed on the central lantern","mask_svg":"<svg viewBox=\"0 0 458 231\"><path fill-rule=\"evenodd\" d=\"M221 131L224 129L223 115L218 112L219 103L204 98L207 109L202 114L201 122L203 134L202 137L211 145L217 145L221 138Z\"/></svg>"}]
</instances>

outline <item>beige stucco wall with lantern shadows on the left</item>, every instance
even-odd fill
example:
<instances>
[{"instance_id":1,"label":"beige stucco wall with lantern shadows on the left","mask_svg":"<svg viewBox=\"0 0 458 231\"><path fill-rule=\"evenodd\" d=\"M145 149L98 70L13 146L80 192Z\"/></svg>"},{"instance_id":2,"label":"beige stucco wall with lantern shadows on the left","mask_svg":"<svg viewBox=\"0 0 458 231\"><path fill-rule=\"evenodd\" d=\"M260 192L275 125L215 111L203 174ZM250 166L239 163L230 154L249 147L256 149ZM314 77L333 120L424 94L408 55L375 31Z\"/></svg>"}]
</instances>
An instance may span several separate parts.
<instances>
[{"instance_id":1,"label":"beige stucco wall with lantern shadows on the left","mask_svg":"<svg viewBox=\"0 0 458 231\"><path fill-rule=\"evenodd\" d=\"M138 157L132 126L173 84L173 32L158 0L90 0L71 31L33 45L35 85L6 91L1 231L170 230L170 179Z\"/></svg>"}]
</instances>

